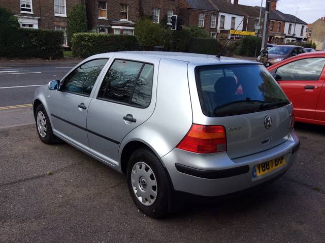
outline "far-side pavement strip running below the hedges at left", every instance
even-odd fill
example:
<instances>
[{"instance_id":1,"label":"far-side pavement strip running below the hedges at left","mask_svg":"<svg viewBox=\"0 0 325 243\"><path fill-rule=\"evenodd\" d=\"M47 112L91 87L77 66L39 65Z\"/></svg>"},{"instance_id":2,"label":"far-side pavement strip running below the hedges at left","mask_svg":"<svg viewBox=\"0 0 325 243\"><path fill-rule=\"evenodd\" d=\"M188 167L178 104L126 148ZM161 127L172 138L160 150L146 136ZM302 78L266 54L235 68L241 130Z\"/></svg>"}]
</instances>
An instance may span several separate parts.
<instances>
[{"instance_id":1,"label":"far-side pavement strip running below the hedges at left","mask_svg":"<svg viewBox=\"0 0 325 243\"><path fill-rule=\"evenodd\" d=\"M35 65L76 65L80 63L82 58L62 58L62 59L41 59L41 58L27 58L27 59L9 59L0 58L0 67L6 66L35 66Z\"/></svg>"}]
</instances>

